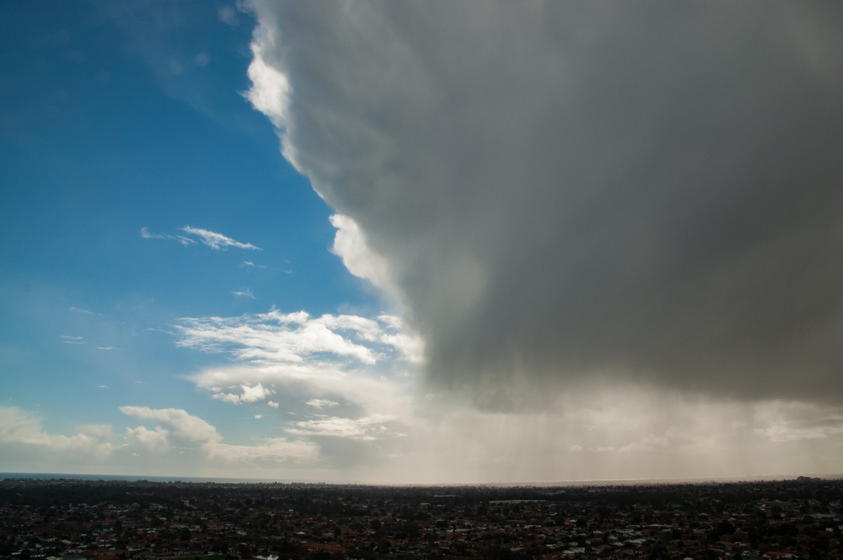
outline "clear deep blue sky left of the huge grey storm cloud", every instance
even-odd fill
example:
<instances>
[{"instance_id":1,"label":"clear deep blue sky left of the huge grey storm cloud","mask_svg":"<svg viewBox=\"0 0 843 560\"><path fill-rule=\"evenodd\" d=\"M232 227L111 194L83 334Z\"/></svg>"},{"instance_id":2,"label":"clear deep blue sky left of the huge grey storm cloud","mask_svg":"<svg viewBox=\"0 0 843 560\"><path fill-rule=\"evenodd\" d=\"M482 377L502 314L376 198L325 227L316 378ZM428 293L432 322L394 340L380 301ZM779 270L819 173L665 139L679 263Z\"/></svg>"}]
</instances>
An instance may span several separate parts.
<instances>
[{"instance_id":1,"label":"clear deep blue sky left of the huge grey storm cloud","mask_svg":"<svg viewBox=\"0 0 843 560\"><path fill-rule=\"evenodd\" d=\"M118 403L227 419L184 379L221 359L176 347L180 317L379 311L330 253L330 208L244 98L248 13L35 2L0 18L3 406L58 432L122 422Z\"/></svg>"}]
</instances>

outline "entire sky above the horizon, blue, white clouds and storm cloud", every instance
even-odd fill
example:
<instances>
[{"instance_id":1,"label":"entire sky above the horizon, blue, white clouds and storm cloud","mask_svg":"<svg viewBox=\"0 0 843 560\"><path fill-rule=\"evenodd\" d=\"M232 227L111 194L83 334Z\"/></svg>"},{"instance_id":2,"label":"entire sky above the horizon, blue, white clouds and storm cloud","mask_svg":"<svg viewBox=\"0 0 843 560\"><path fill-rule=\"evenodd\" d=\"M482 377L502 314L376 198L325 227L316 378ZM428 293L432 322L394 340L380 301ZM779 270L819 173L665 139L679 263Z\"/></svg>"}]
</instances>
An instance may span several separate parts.
<instances>
[{"instance_id":1,"label":"entire sky above the horizon, blue, white clouds and storm cloud","mask_svg":"<svg viewBox=\"0 0 843 560\"><path fill-rule=\"evenodd\" d=\"M843 473L841 12L0 2L0 472Z\"/></svg>"}]
</instances>

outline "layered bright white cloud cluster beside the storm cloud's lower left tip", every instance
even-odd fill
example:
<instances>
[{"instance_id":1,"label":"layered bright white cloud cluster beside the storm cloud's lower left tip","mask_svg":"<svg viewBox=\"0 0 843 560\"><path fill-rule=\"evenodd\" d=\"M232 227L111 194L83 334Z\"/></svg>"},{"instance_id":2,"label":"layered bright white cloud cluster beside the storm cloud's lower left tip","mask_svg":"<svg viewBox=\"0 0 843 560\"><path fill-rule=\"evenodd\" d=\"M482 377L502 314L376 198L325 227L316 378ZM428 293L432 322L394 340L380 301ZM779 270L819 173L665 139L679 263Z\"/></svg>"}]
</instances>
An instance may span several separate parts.
<instances>
[{"instance_id":1,"label":"layered bright white cloud cluster beside the storm cloud's lower left tip","mask_svg":"<svg viewBox=\"0 0 843 560\"><path fill-rule=\"evenodd\" d=\"M263 408L278 433L313 445L341 477L382 467L416 421L419 344L398 317L273 308L185 318L177 329L177 344L234 362L191 376L196 387L224 403Z\"/></svg>"}]
</instances>

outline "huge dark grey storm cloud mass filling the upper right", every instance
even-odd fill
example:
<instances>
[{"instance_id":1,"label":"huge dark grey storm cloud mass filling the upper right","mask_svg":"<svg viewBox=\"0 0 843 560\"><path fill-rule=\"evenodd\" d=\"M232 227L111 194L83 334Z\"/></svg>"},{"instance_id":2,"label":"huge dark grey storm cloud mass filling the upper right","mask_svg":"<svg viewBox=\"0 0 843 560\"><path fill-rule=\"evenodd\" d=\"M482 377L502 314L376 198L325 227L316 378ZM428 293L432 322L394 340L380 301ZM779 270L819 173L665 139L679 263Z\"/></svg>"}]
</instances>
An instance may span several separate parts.
<instances>
[{"instance_id":1,"label":"huge dark grey storm cloud mass filling the upper right","mask_svg":"<svg viewBox=\"0 0 843 560\"><path fill-rule=\"evenodd\" d=\"M428 379L498 408L594 376L841 396L841 6L256 11L287 153L389 261Z\"/></svg>"}]
</instances>

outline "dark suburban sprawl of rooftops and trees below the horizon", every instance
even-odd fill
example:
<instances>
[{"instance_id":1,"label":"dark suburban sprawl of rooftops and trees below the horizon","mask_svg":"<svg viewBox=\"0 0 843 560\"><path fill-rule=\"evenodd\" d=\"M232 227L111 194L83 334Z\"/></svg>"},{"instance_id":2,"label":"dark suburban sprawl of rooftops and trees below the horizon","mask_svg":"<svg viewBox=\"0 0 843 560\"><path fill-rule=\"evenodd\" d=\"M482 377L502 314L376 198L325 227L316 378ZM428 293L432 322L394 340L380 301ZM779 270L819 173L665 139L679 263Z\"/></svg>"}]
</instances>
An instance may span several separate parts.
<instances>
[{"instance_id":1,"label":"dark suburban sprawl of rooftops and trees below the horizon","mask_svg":"<svg viewBox=\"0 0 843 560\"><path fill-rule=\"evenodd\" d=\"M0 560L843 558L843 481L0 481Z\"/></svg>"}]
</instances>

